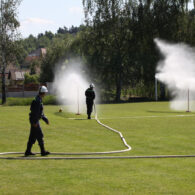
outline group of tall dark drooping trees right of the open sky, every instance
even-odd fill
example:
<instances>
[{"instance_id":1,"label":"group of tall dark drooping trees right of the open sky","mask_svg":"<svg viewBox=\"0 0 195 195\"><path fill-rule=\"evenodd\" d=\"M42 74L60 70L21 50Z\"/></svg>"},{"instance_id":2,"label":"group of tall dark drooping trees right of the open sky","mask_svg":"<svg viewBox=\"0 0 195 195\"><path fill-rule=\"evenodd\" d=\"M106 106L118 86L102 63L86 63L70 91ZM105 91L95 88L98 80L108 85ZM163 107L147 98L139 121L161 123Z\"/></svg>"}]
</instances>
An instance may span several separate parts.
<instances>
[{"instance_id":1,"label":"group of tall dark drooping trees right of the open sky","mask_svg":"<svg viewBox=\"0 0 195 195\"><path fill-rule=\"evenodd\" d=\"M101 81L115 86L115 100L121 91L137 83L146 96L154 94L155 67L160 56L154 38L193 44L193 11L187 1L84 0L89 36L88 62L98 69ZM93 43L93 49L90 49ZM101 73L100 73L101 72ZM162 96L164 92L162 90Z\"/></svg>"}]
</instances>

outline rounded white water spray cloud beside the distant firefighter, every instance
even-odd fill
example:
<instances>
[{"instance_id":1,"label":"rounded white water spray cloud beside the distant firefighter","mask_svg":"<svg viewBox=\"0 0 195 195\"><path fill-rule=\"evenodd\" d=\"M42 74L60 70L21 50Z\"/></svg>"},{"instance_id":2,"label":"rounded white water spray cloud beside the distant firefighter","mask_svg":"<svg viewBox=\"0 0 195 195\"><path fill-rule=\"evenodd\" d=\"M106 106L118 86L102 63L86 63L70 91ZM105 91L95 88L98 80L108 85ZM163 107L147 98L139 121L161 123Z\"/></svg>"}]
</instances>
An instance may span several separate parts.
<instances>
[{"instance_id":1,"label":"rounded white water spray cloud beside the distant firefighter","mask_svg":"<svg viewBox=\"0 0 195 195\"><path fill-rule=\"evenodd\" d=\"M80 114L86 110L85 90L88 88L89 82L86 80L86 75L74 67L73 64L67 69L64 66L58 68L53 88L61 104L68 105L69 111Z\"/></svg>"}]
</instances>

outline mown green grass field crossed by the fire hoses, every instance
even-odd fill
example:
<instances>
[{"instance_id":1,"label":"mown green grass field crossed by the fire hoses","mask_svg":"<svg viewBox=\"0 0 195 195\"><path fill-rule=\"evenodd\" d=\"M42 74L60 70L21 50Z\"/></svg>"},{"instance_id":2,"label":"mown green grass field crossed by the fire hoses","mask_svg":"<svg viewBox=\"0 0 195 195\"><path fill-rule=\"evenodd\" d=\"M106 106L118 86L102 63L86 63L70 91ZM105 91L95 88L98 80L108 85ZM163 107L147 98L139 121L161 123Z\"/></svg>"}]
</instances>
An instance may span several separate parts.
<instances>
[{"instance_id":1,"label":"mown green grass field crossed by the fire hoses","mask_svg":"<svg viewBox=\"0 0 195 195\"><path fill-rule=\"evenodd\" d=\"M132 147L116 156L195 154L195 113L171 111L167 102L97 107L101 122L121 131ZM70 120L86 116L65 109L45 106L50 125L41 125L50 152L125 149L117 134L95 120ZM0 107L0 153L25 150L28 113L29 106ZM194 195L195 158L0 160L0 194Z\"/></svg>"}]
</instances>

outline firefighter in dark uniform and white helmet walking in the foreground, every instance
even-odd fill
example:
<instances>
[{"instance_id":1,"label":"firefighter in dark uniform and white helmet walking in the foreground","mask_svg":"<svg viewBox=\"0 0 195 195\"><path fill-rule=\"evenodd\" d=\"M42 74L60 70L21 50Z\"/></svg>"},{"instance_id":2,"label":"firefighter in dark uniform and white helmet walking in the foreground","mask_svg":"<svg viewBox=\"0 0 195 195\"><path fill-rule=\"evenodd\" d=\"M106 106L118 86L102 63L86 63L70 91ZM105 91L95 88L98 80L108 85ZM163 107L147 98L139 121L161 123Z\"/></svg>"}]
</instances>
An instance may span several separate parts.
<instances>
[{"instance_id":1,"label":"firefighter in dark uniform and white helmet walking in the foreground","mask_svg":"<svg viewBox=\"0 0 195 195\"><path fill-rule=\"evenodd\" d=\"M36 140L39 143L40 149L41 149L41 155L46 156L50 154L48 151L45 151L44 148L44 141L43 141L43 132L40 127L39 120L43 119L45 123L49 125L49 120L43 113L43 103L42 98L44 98L45 94L48 92L47 88L45 86L41 86L39 89L39 94L35 97L35 99L31 103L30 107L30 135L27 143L27 149L25 151L25 156L29 155L35 155L31 152L31 148L33 144L36 142Z\"/></svg>"}]
</instances>

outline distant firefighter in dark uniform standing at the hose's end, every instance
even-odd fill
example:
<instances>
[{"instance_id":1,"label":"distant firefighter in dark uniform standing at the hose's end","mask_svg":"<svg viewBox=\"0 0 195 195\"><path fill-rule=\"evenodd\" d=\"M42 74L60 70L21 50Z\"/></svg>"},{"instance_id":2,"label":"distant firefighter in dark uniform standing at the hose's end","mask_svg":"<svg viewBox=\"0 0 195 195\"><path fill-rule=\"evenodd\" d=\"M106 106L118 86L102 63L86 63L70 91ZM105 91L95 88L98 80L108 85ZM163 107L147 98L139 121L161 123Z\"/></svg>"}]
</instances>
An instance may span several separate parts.
<instances>
[{"instance_id":1,"label":"distant firefighter in dark uniform standing at the hose's end","mask_svg":"<svg viewBox=\"0 0 195 195\"><path fill-rule=\"evenodd\" d=\"M88 119L91 119L91 113L93 111L93 101L95 99L95 92L93 88L94 84L92 83L90 84L89 88L85 91Z\"/></svg>"}]
</instances>

